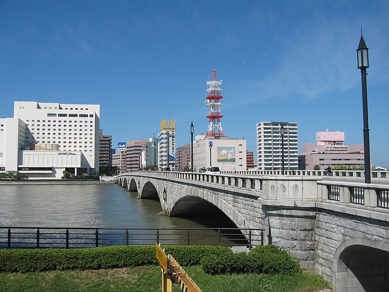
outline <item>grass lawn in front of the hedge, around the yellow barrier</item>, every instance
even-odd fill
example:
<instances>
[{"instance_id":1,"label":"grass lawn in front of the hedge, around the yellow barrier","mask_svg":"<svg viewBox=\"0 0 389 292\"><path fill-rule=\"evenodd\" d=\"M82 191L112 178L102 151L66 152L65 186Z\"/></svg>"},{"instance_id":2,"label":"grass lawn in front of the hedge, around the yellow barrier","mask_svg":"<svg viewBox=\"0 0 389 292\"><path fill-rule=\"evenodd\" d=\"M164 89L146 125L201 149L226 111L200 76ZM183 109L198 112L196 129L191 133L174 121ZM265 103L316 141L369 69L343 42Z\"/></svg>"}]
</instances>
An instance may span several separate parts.
<instances>
[{"instance_id":1,"label":"grass lawn in front of the hedge, around the yellow barrier","mask_svg":"<svg viewBox=\"0 0 389 292\"><path fill-rule=\"evenodd\" d=\"M329 288L315 274L205 274L185 267L203 292L313 292ZM102 270L0 273L0 292L152 292L161 291L159 266ZM174 292L179 292L174 285Z\"/></svg>"}]
</instances>

